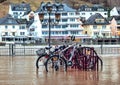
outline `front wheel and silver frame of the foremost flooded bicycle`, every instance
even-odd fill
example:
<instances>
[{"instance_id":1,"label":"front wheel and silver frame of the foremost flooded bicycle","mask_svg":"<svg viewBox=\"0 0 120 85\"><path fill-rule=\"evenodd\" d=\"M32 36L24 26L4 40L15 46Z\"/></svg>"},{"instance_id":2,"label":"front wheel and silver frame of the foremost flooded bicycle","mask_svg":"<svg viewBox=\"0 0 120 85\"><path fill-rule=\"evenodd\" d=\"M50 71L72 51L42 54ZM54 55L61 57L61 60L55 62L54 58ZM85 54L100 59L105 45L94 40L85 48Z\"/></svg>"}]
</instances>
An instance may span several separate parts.
<instances>
[{"instance_id":1,"label":"front wheel and silver frame of the foremost flooded bicycle","mask_svg":"<svg viewBox=\"0 0 120 85\"><path fill-rule=\"evenodd\" d=\"M46 71L67 71L68 66L76 64L77 57L74 56L76 48L77 45L73 44L60 51L58 55L49 57L45 63Z\"/></svg>"}]
</instances>

